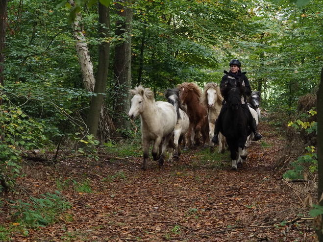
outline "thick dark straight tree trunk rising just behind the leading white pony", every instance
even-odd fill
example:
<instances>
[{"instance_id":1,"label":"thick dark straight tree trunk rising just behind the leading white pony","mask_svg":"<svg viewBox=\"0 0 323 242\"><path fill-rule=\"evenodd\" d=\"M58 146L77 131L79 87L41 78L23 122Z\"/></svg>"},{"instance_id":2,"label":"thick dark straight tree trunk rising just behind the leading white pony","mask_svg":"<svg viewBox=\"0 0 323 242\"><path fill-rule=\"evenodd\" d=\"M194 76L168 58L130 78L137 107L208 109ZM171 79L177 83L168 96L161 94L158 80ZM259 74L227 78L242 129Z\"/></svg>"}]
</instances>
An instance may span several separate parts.
<instances>
[{"instance_id":1,"label":"thick dark straight tree trunk rising just behind the leading white pony","mask_svg":"<svg viewBox=\"0 0 323 242\"><path fill-rule=\"evenodd\" d=\"M120 129L129 129L130 123L124 115L130 109L131 96L131 30L132 30L132 8L130 1L123 6L125 0L116 3L117 14L123 17L123 21L117 21L117 36L126 36L122 42L115 47L114 78L115 78L115 105L113 122ZM124 10L124 11L123 11Z\"/></svg>"}]
</instances>

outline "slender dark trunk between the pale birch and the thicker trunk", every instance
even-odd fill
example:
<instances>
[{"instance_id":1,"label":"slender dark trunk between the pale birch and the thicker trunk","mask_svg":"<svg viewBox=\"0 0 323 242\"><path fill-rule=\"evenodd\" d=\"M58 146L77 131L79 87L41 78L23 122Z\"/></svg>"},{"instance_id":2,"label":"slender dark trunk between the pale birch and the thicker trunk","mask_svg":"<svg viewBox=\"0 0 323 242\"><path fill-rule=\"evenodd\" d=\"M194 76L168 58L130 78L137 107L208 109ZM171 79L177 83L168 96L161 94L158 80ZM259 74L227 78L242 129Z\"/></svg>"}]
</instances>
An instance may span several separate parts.
<instances>
[{"instance_id":1,"label":"slender dark trunk between the pale birch and the thicker trunk","mask_svg":"<svg viewBox=\"0 0 323 242\"><path fill-rule=\"evenodd\" d=\"M110 36L110 15L109 8L99 3L99 35L101 38L107 38ZM103 93L105 93L106 79L108 77L109 69L109 58L110 58L110 43L102 42L99 45L99 67L96 77L94 93L97 96L93 96L91 100L90 110L86 124L89 128L89 132L94 136L97 135L99 118L101 116L104 119L102 103ZM101 125L109 128L108 126Z\"/></svg>"}]
</instances>

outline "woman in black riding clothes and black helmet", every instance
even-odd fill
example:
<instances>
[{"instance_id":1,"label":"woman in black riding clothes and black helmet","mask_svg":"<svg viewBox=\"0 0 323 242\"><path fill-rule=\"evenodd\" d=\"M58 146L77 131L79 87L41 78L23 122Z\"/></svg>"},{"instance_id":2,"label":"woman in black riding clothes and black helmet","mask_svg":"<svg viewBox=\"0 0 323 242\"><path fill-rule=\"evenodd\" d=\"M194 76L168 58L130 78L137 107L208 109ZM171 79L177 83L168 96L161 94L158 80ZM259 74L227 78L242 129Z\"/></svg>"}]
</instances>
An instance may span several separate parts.
<instances>
[{"instance_id":1,"label":"woman in black riding clothes and black helmet","mask_svg":"<svg viewBox=\"0 0 323 242\"><path fill-rule=\"evenodd\" d=\"M249 96L251 94L251 88L249 84L249 80L247 76L245 75L246 72L242 73L241 72L241 63L238 59L233 59L230 61L230 72L224 71L225 75L222 77L220 88L225 87L226 85L231 85L232 87L235 87L237 82L239 81L241 85L245 86L246 91L244 94L244 98L242 98L242 103L241 107L245 108L247 112L249 112L249 127L251 128L251 131L254 133L254 140L258 141L262 139L261 134L258 133L257 131L257 124L254 118L252 117L252 114L250 112L250 109L248 107L247 103L247 95ZM220 111L220 114L218 116L218 119L215 121L215 130L214 130L214 136L212 138L213 143L218 142L218 134L221 129L221 120L222 116L224 115L224 112L226 111L227 105L225 101L222 103L222 108Z\"/></svg>"}]
</instances>

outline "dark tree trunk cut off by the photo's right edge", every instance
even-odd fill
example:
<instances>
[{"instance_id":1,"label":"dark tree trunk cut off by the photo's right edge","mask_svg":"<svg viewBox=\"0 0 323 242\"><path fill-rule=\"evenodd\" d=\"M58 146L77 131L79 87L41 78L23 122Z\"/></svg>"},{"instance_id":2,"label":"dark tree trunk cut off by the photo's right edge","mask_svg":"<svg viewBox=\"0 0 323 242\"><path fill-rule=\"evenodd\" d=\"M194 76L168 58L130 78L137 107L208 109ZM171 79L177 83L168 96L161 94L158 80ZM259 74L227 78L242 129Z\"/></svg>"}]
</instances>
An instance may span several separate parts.
<instances>
[{"instance_id":1,"label":"dark tree trunk cut off by the photo's right edge","mask_svg":"<svg viewBox=\"0 0 323 242\"><path fill-rule=\"evenodd\" d=\"M318 184L318 198L319 205L323 206L323 68L321 70L321 83L318 92L317 100L318 108L318 174L319 174L319 184ZM322 215L315 218L315 229L317 234L317 239L319 242L323 242L323 221Z\"/></svg>"}]
</instances>

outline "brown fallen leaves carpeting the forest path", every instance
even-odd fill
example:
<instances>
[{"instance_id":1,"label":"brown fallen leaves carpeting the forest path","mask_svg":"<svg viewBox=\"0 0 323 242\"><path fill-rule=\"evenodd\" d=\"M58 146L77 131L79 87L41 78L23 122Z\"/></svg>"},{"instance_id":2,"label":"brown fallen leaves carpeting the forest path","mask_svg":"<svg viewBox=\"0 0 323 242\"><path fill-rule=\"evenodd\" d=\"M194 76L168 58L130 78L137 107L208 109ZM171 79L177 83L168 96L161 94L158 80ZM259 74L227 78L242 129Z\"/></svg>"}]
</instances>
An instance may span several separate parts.
<instances>
[{"instance_id":1,"label":"brown fallen leaves carpeting the forest path","mask_svg":"<svg viewBox=\"0 0 323 242\"><path fill-rule=\"evenodd\" d=\"M66 188L62 194L73 207L59 221L28 236L15 234L12 240L313 241L312 221L304 219L309 209L273 167L281 137L266 123L260 123L259 131L268 145L250 145L248 163L238 171L229 169L229 155L224 169L194 169L190 162L196 150L182 154L173 166L166 162L163 169L150 159L147 171L140 170L142 159L133 157L114 162L78 157L56 168L34 163L25 168L28 176L18 180L28 191L53 193L57 179L88 178L93 193ZM302 219L290 222L295 218Z\"/></svg>"}]
</instances>

